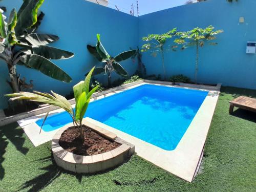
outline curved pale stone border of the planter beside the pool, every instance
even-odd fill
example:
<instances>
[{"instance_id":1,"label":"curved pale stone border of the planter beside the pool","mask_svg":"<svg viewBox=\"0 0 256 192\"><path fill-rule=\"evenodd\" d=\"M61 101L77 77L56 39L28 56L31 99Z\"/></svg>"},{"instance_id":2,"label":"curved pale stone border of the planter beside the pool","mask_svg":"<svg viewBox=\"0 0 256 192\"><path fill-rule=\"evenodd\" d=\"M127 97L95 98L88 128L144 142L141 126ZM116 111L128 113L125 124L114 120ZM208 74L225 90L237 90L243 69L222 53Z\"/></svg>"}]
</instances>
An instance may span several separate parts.
<instances>
[{"instance_id":1,"label":"curved pale stone border of the planter beside the pool","mask_svg":"<svg viewBox=\"0 0 256 192\"><path fill-rule=\"evenodd\" d=\"M107 136L108 134L106 133L112 134L106 130L103 130L104 133L99 133L98 130L93 129L91 126L89 127L102 136ZM59 145L59 138L67 129L69 128L66 125L54 135L52 139L52 152L56 164L70 172L90 174L103 172L106 169L122 164L134 153L134 145L116 137L113 140L121 145L115 148L115 150L92 156L75 155L67 152Z\"/></svg>"}]
</instances>

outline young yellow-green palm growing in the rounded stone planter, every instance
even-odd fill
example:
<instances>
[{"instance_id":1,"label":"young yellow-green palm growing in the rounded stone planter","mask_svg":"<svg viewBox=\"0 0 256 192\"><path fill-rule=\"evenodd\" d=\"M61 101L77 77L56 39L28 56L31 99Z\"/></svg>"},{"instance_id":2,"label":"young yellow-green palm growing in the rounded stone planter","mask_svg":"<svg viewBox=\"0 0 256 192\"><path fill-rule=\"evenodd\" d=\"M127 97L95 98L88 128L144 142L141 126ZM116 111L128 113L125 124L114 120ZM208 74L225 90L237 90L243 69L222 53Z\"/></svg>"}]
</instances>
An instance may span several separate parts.
<instances>
[{"instance_id":1,"label":"young yellow-green palm growing in the rounded stone planter","mask_svg":"<svg viewBox=\"0 0 256 192\"><path fill-rule=\"evenodd\" d=\"M5 96L13 97L10 100L20 100L20 99L30 100L34 102L47 103L47 104L55 105L55 106L58 106L59 108L62 108L63 110L68 112L68 114L71 116L74 126L79 127L81 141L82 143L84 143L82 119L83 119L83 116L86 114L88 104L90 102L92 94L98 89L98 86L96 86L89 92L91 76L94 71L94 68L91 69L91 71L88 73L84 81L80 81L73 87L75 101L76 101L75 110L72 108L70 102L65 97L57 93L54 93L53 91L51 91L51 94L33 91L33 93L19 92L19 93L8 94ZM43 122L46 121L48 114L49 113L47 113L47 115L45 116L45 119ZM43 125L44 123L42 123L41 128Z\"/></svg>"}]
</instances>

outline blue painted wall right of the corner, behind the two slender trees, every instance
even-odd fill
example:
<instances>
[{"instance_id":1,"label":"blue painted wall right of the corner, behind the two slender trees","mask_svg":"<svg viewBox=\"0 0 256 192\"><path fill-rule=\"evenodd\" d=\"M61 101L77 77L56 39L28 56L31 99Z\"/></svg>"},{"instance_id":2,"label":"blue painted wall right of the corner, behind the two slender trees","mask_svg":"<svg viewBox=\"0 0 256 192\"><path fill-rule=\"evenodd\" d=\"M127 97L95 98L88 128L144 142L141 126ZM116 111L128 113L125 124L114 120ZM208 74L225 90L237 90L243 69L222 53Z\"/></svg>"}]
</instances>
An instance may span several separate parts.
<instances>
[{"instance_id":1,"label":"blue painted wall right of the corner, behind the two slender trees","mask_svg":"<svg viewBox=\"0 0 256 192\"><path fill-rule=\"evenodd\" d=\"M246 42L256 41L256 1L208 0L201 3L171 8L139 17L141 38L150 33L165 33L175 27L187 31L209 25L223 29L216 42L218 46L205 46L199 53L198 81L203 83L221 82L224 86L256 89L256 55L246 54ZM245 23L239 24L239 17ZM172 40L167 42L171 44ZM166 51L167 76L184 74L194 79L196 49ZM143 54L147 74L163 74L160 54L154 58Z\"/></svg>"}]
</instances>

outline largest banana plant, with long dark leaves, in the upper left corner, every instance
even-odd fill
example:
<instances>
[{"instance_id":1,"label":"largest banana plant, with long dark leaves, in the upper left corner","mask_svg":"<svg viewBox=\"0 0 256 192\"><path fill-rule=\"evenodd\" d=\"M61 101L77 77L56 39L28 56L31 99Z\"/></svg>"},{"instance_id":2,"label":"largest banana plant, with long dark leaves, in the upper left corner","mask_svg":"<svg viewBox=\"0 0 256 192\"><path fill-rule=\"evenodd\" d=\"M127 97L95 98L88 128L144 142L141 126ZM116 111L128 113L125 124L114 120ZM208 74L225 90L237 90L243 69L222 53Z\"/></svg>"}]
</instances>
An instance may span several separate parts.
<instances>
[{"instance_id":1,"label":"largest banana plant, with long dark leaves, in the upper left corner","mask_svg":"<svg viewBox=\"0 0 256 192\"><path fill-rule=\"evenodd\" d=\"M23 65L63 81L72 78L49 59L68 59L73 53L48 46L59 39L56 35L38 34L36 29L44 13L38 12L44 0L26 0L16 12L12 9L8 22L0 13L0 59L4 60L9 70L10 82L14 93L18 93L16 65Z\"/></svg>"}]
</instances>

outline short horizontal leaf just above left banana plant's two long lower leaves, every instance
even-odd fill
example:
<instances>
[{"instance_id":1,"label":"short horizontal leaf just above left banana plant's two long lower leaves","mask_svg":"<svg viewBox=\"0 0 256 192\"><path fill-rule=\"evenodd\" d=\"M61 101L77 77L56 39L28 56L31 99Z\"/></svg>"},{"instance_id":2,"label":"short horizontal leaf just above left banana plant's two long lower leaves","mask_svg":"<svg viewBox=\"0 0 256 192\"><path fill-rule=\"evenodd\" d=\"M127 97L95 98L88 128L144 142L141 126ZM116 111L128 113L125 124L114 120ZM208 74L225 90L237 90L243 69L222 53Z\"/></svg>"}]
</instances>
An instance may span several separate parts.
<instances>
[{"instance_id":1,"label":"short horizontal leaf just above left banana plant's two long lower leaves","mask_svg":"<svg viewBox=\"0 0 256 192\"><path fill-rule=\"evenodd\" d=\"M59 39L56 35L31 33L25 37L31 45L47 45Z\"/></svg>"}]
</instances>

